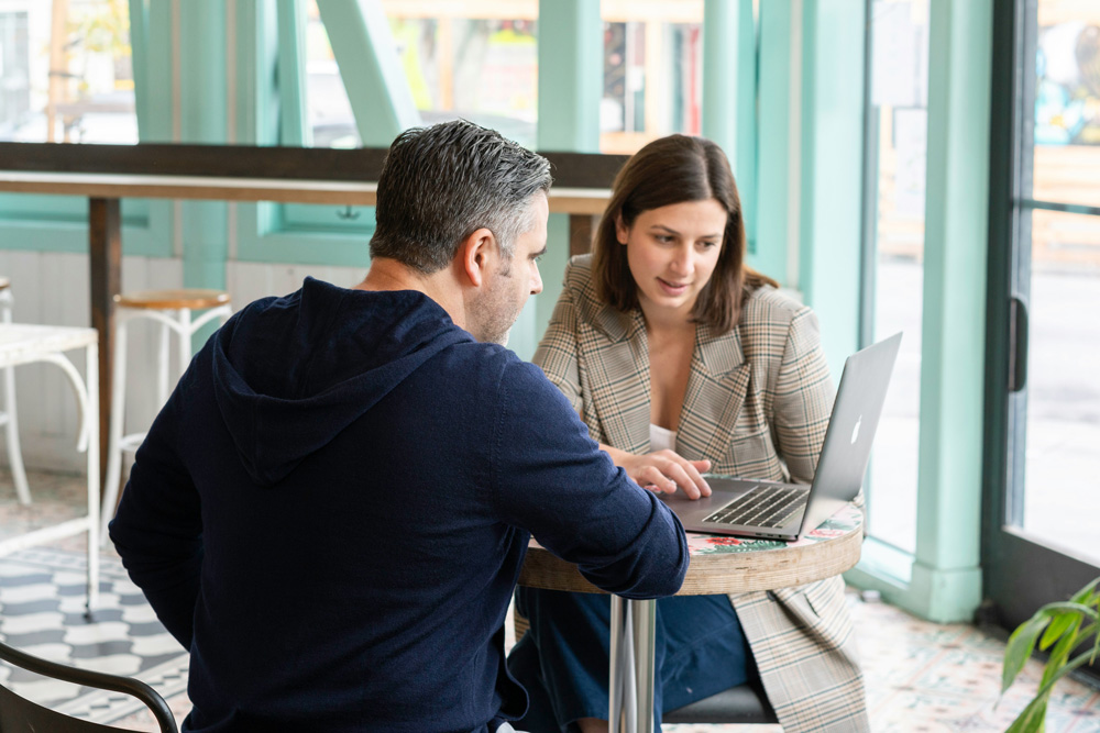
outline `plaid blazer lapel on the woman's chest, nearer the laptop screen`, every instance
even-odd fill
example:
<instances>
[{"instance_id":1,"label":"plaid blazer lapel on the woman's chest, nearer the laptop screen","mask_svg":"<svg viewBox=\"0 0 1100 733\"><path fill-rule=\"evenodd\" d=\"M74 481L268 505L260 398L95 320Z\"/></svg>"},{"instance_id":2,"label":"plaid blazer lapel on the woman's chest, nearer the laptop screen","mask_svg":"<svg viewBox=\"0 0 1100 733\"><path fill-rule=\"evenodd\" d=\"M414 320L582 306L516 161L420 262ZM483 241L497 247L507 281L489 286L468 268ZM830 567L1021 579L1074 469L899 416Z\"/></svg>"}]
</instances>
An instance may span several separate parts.
<instances>
[{"instance_id":1,"label":"plaid blazer lapel on the woman's chest, nearer the laptop screen","mask_svg":"<svg viewBox=\"0 0 1100 733\"><path fill-rule=\"evenodd\" d=\"M750 374L739 329L715 336L710 326L697 326L676 433L681 455L713 462L726 454L749 390Z\"/></svg>"}]
</instances>

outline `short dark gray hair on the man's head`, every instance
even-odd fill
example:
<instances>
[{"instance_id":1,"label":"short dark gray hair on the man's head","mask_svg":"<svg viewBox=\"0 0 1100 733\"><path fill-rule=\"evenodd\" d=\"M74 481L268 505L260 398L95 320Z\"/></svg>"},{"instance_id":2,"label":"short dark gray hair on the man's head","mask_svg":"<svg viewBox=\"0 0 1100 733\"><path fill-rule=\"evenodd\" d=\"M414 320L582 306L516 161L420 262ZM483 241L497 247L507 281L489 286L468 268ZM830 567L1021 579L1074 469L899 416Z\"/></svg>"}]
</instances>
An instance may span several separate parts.
<instances>
[{"instance_id":1,"label":"short dark gray hair on the man's head","mask_svg":"<svg viewBox=\"0 0 1100 733\"><path fill-rule=\"evenodd\" d=\"M530 226L532 198L549 192L550 182L546 158L495 130L465 120L406 130L378 176L371 257L430 275L485 227L508 262Z\"/></svg>"}]
</instances>

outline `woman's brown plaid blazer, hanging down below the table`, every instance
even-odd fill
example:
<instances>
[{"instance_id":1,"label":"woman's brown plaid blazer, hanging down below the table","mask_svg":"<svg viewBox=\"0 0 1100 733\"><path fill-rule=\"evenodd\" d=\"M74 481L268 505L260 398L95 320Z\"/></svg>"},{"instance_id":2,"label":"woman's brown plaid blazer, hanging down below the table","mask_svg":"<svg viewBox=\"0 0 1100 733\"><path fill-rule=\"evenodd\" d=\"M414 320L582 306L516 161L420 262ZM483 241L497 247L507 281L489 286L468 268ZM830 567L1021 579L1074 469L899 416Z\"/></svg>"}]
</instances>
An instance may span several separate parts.
<instances>
[{"instance_id":1,"label":"woman's brown plaid blazer, hanging down below the table","mask_svg":"<svg viewBox=\"0 0 1100 733\"><path fill-rule=\"evenodd\" d=\"M596 298L591 256L573 257L532 359L593 440L649 447L649 346L641 312ZM809 484L833 409L817 318L771 288L752 292L733 332L698 325L676 452L717 474ZM862 671L837 576L730 596L768 699L787 733L868 731Z\"/></svg>"}]
</instances>

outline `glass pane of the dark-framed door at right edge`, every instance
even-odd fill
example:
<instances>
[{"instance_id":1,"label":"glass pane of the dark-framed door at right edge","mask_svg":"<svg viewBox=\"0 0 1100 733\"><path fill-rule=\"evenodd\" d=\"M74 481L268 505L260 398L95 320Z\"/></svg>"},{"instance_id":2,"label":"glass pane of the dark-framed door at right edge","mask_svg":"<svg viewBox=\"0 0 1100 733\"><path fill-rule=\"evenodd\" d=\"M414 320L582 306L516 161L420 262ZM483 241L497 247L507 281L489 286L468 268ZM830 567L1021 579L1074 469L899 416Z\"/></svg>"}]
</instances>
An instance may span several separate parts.
<instances>
[{"instance_id":1,"label":"glass pane of the dark-framed door at right edge","mask_svg":"<svg viewBox=\"0 0 1100 733\"><path fill-rule=\"evenodd\" d=\"M1030 321L1024 460L1012 478L1022 515L1010 523L1097 564L1100 5L1040 0L1032 12L1034 135L1021 143L1016 257Z\"/></svg>"}]
</instances>

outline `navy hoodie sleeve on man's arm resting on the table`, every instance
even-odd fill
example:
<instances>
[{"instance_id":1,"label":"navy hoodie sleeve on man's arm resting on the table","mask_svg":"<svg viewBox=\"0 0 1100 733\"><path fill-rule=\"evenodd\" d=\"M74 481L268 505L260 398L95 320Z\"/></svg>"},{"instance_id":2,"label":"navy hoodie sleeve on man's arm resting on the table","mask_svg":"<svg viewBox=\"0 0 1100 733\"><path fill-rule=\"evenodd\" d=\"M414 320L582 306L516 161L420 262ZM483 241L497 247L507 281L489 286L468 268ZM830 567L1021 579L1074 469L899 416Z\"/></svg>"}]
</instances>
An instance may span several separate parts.
<instances>
[{"instance_id":1,"label":"navy hoodie sleeve on man's arm resting on the table","mask_svg":"<svg viewBox=\"0 0 1100 733\"><path fill-rule=\"evenodd\" d=\"M683 526L588 437L539 368L510 363L493 436L493 491L509 523L625 598L675 593L688 571Z\"/></svg>"}]
</instances>

